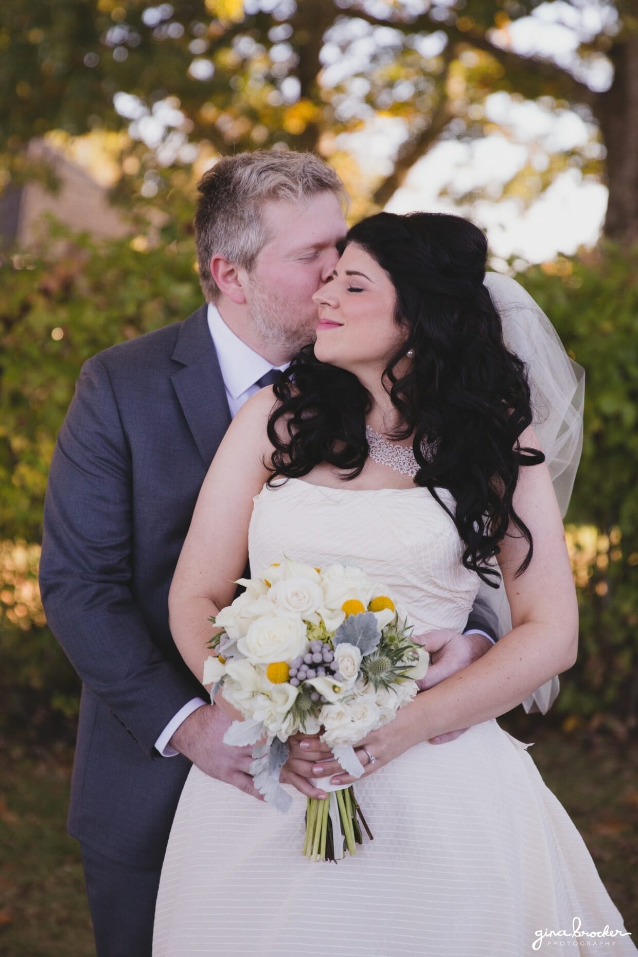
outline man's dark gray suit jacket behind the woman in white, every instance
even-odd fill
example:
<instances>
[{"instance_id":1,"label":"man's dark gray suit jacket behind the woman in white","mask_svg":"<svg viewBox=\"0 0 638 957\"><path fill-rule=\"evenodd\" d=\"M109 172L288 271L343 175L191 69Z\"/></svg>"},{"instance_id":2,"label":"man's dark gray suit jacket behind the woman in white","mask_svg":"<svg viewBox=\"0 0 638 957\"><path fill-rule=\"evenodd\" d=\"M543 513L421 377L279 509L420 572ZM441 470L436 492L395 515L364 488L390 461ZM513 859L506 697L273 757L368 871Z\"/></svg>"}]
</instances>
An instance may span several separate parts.
<instances>
[{"instance_id":1,"label":"man's dark gray suit jacket behind the woman in white","mask_svg":"<svg viewBox=\"0 0 638 957\"><path fill-rule=\"evenodd\" d=\"M172 642L168 596L230 420L202 306L85 363L51 463L40 588L82 679L69 831L138 867L161 865L190 768L154 750L205 695Z\"/></svg>"}]
</instances>

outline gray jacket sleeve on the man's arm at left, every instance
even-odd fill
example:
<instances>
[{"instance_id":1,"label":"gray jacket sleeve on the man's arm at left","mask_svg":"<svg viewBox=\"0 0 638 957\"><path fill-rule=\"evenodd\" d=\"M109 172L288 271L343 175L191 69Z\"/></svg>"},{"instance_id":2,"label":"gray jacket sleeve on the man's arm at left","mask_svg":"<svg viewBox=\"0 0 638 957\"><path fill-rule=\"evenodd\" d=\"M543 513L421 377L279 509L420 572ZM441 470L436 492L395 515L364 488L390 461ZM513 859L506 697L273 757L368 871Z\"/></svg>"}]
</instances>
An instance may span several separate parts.
<instances>
[{"instance_id":1,"label":"gray jacket sleeve on the man's arm at left","mask_svg":"<svg viewBox=\"0 0 638 957\"><path fill-rule=\"evenodd\" d=\"M132 466L108 373L84 364L57 437L44 507L40 590L80 679L149 756L196 694L131 593Z\"/></svg>"}]
</instances>

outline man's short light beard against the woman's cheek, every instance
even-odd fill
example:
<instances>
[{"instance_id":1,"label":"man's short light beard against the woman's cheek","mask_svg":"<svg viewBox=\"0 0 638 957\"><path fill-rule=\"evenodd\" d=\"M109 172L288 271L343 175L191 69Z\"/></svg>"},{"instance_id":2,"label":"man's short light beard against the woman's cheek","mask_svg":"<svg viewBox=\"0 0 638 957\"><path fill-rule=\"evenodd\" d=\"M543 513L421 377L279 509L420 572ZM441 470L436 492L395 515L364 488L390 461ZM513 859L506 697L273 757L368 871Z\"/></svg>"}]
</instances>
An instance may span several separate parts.
<instances>
[{"instance_id":1,"label":"man's short light beard against the woman's cheek","mask_svg":"<svg viewBox=\"0 0 638 957\"><path fill-rule=\"evenodd\" d=\"M277 293L264 289L253 279L250 283L248 307L263 343L285 348L290 358L296 355L302 346L313 343L316 339L316 325L319 320L314 304L309 307L307 305L304 310Z\"/></svg>"}]
</instances>

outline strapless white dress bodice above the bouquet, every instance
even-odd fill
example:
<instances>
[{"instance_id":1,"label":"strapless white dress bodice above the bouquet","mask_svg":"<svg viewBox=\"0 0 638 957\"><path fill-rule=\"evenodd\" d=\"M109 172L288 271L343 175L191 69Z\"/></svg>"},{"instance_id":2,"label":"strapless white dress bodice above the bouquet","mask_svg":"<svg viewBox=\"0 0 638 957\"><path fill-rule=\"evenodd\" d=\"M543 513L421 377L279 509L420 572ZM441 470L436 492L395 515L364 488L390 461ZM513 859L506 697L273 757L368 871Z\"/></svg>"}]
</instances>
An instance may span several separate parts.
<instances>
[{"instance_id":1,"label":"strapless white dress bodice above the bouquet","mask_svg":"<svg viewBox=\"0 0 638 957\"><path fill-rule=\"evenodd\" d=\"M450 492L437 494L453 512ZM248 534L253 573L283 556L361 568L395 598L415 634L465 627L479 578L461 562L464 547L425 488L332 488L305 479L264 485Z\"/></svg>"}]
</instances>

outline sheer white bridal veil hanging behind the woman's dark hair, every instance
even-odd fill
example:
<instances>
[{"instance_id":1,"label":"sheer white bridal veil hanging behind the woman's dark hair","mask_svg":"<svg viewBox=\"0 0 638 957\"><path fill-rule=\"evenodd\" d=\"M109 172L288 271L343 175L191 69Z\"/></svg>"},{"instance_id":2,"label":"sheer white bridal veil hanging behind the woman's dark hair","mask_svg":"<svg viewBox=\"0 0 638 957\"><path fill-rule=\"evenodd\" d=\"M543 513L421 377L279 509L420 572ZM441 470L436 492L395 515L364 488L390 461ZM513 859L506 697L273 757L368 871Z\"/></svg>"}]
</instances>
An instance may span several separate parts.
<instances>
[{"instance_id":1,"label":"sheer white bridal veil hanging behind the woman's dark hair","mask_svg":"<svg viewBox=\"0 0 638 957\"><path fill-rule=\"evenodd\" d=\"M533 424L564 518L581 459L584 369L570 359L552 323L514 279L488 273L485 286L500 316L505 345L527 367ZM496 560L492 561L495 565ZM476 606L496 634L512 630L510 603L502 581L497 590L482 581ZM558 677L547 681L523 701L526 712L545 714L556 701L558 689Z\"/></svg>"}]
</instances>

